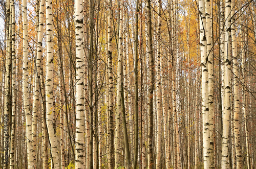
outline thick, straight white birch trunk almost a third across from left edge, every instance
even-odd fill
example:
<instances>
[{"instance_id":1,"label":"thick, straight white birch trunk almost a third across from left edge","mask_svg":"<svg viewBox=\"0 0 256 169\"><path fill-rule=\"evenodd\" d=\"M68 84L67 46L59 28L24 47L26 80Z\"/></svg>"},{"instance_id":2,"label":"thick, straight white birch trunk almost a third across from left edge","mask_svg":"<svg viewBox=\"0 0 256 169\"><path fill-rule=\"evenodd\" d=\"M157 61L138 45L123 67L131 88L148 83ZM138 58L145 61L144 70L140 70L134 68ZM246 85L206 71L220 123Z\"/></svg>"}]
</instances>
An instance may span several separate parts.
<instances>
[{"instance_id":1,"label":"thick, straight white birch trunk almost a third across from left edge","mask_svg":"<svg viewBox=\"0 0 256 169\"><path fill-rule=\"evenodd\" d=\"M83 5L82 0L75 1L75 33L76 33L76 137L75 137L75 166L83 168Z\"/></svg>"}]
</instances>

